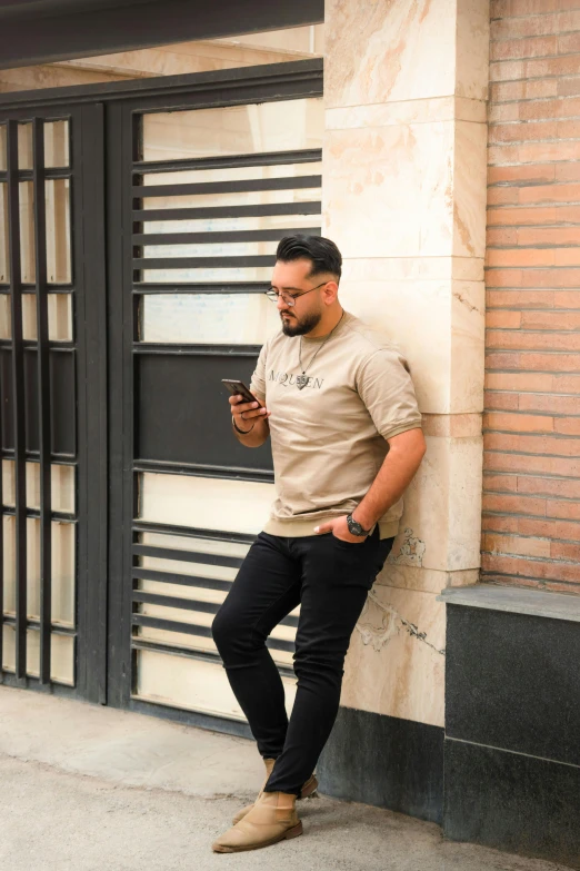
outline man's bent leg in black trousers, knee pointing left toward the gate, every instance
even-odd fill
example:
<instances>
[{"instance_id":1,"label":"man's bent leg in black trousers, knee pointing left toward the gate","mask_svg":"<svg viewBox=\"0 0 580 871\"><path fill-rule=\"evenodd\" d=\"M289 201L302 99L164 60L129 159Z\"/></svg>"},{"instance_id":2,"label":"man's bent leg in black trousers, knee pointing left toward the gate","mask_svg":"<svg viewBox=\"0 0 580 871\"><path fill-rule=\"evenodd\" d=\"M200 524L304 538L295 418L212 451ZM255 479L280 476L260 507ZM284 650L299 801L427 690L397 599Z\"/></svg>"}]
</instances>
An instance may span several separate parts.
<instances>
[{"instance_id":1,"label":"man's bent leg in black trousers, knee pointing left toward the gate","mask_svg":"<svg viewBox=\"0 0 580 871\"><path fill-rule=\"evenodd\" d=\"M272 628L300 604L300 562L290 555L288 541L258 536L212 625L231 689L264 759L280 755L288 728L282 680L266 646Z\"/></svg>"}]
</instances>

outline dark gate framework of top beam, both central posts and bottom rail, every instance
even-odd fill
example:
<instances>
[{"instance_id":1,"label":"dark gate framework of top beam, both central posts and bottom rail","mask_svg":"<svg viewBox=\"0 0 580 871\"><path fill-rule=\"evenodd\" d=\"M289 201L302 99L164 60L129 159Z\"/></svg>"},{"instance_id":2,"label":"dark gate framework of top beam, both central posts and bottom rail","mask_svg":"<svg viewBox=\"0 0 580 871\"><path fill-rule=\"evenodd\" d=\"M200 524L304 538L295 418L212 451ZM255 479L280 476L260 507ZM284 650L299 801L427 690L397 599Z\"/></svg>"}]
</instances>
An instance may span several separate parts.
<instances>
[{"instance_id":1,"label":"dark gate framework of top beam, both central posts and bottom rail","mask_svg":"<svg viewBox=\"0 0 580 871\"><path fill-rule=\"evenodd\" d=\"M82 216L82 229L74 232L73 246L84 288L77 303L78 323L84 326L74 337L79 343L77 514L79 529L83 529L77 552L80 644L76 687L9 674L4 674L4 684L48 690L249 736L244 723L131 697L130 592L137 495L130 184L133 130L141 112L320 97L322 71L322 60L312 59L0 95L0 120L34 116L73 119L77 135L72 162L81 184L73 186L72 225L74 216ZM86 484L83 493L81 482ZM18 505L20 512L22 505L26 511L22 493ZM21 616L20 623L24 626Z\"/></svg>"}]
</instances>

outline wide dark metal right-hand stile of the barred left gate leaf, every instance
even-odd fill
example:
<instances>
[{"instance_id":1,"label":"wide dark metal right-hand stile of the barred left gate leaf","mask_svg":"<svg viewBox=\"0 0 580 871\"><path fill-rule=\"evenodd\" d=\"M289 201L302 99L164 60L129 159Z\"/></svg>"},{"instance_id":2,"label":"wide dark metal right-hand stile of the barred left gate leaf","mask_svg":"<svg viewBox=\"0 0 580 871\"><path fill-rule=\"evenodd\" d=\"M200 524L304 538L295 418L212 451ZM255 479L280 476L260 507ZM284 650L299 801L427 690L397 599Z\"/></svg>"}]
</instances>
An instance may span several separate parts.
<instances>
[{"instance_id":1,"label":"wide dark metal right-hand stile of the barred left gate leaf","mask_svg":"<svg viewBox=\"0 0 580 871\"><path fill-rule=\"evenodd\" d=\"M80 120L80 130L79 130ZM87 517L88 534L79 535L79 582L82 571L87 577L86 630L83 634L83 697L91 702L107 702L107 305L106 305L106 240L104 240L104 112L101 103L83 106L80 119L73 121L74 167L81 166L82 256L77 254L76 273L79 276L77 315L84 324L86 353L79 346L78 407L79 432L84 427L86 438L79 438L78 462L79 514L81 505ZM81 152L77 142L81 138ZM82 160L80 157L82 155ZM79 158L77 160L77 157ZM77 185L77 188L79 185ZM78 190L74 204L78 202ZM100 457L98 463L94 457ZM79 529L80 532L80 529ZM86 542L86 546L83 544ZM86 566L83 568L82 566ZM86 641L84 641L86 640ZM79 679L81 679L79 673ZM79 684L81 685L81 684Z\"/></svg>"}]
</instances>

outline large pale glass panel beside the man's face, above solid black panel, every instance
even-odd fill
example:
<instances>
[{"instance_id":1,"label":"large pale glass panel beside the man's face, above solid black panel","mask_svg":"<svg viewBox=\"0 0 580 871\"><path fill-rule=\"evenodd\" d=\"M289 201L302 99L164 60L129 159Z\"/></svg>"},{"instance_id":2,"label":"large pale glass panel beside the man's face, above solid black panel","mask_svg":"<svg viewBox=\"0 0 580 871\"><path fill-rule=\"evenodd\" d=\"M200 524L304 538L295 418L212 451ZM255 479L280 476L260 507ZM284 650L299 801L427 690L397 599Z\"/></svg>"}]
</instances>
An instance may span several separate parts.
<instances>
[{"instance_id":1,"label":"large pale glass panel beside the man's face, above solid black panel","mask_svg":"<svg viewBox=\"0 0 580 871\"><path fill-rule=\"evenodd\" d=\"M280 329L264 294L148 294L141 309L142 342L262 345Z\"/></svg>"}]
</instances>

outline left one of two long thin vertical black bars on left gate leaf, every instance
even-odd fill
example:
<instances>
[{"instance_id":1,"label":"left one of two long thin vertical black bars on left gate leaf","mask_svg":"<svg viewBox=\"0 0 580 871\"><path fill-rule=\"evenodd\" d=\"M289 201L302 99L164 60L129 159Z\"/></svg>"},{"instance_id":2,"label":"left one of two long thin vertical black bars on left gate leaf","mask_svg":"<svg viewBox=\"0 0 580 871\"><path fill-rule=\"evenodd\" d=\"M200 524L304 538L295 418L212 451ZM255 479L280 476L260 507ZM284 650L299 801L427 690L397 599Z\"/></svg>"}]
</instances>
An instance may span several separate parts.
<instances>
[{"instance_id":1,"label":"left one of two long thin vertical black bars on left gate leaf","mask_svg":"<svg viewBox=\"0 0 580 871\"><path fill-rule=\"evenodd\" d=\"M27 674L27 482L24 434L24 353L22 345L22 283L20 265L20 190L18 182L18 122L8 121L8 240L12 317L12 410L14 422L16 491L16 675Z\"/></svg>"}]
</instances>

